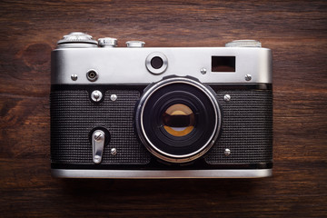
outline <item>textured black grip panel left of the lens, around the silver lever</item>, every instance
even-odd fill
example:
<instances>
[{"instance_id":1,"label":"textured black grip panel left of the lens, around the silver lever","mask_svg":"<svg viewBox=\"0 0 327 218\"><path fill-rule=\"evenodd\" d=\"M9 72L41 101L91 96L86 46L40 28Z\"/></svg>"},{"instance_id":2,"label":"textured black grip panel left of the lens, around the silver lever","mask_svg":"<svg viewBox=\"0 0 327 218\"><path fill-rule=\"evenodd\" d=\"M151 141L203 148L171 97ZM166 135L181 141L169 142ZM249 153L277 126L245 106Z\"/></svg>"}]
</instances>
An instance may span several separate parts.
<instances>
[{"instance_id":1,"label":"textured black grip panel left of the lens, around the silver lever","mask_svg":"<svg viewBox=\"0 0 327 218\"><path fill-rule=\"evenodd\" d=\"M110 95L117 100L111 101ZM104 102L93 103L85 90L54 91L51 100L51 160L52 163L93 163L89 134L103 126L111 134L104 149L102 163L149 163L145 151L134 134L134 106L140 93L136 90L108 90ZM110 154L111 148L117 154Z\"/></svg>"}]
</instances>

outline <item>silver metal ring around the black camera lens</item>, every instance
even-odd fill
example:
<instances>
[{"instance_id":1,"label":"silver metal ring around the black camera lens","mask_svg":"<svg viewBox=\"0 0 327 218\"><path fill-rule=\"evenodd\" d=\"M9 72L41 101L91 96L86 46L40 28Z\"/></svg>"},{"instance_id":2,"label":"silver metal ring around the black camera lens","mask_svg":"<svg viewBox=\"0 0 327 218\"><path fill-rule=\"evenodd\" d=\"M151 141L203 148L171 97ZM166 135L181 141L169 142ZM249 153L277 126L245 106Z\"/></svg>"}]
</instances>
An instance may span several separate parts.
<instances>
[{"instance_id":1,"label":"silver metal ring around the black camera lens","mask_svg":"<svg viewBox=\"0 0 327 218\"><path fill-rule=\"evenodd\" d=\"M190 84L193 85L194 87L200 89L204 94L208 96L210 101L213 104L214 108L214 113L215 113L215 128L213 129L213 134L210 136L208 141L203 144L203 146L193 152L192 154L183 154L183 155L174 155L174 154L167 154L160 149L158 149L148 138L147 134L144 131L144 124L143 124L143 117L144 117L144 107L149 98L154 94L158 89L162 88L165 85L168 84ZM140 120L138 120L138 117ZM221 111L219 108L219 105L216 101L215 95L212 94L203 84L196 82L193 79L185 78L185 77L173 77L173 78L168 78L168 79L163 79L162 81L158 82L157 84L154 84L152 87L150 87L148 90L144 92L144 94L141 96L140 102L137 105L136 108L136 125L137 125L137 134L146 147L146 149L154 154L156 157L167 161L171 163L186 163L186 162L191 162L199 157L201 157L203 154L209 151L209 149L213 146L215 143L218 134L221 129L221 122L222 122L222 116L221 116Z\"/></svg>"}]
</instances>

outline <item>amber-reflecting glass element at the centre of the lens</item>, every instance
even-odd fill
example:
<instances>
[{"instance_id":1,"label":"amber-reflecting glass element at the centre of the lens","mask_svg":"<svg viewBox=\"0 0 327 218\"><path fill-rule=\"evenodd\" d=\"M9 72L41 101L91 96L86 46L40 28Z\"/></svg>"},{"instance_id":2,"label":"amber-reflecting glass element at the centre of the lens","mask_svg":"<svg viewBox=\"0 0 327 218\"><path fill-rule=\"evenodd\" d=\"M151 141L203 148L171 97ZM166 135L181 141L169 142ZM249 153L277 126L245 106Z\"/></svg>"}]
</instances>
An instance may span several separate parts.
<instances>
[{"instance_id":1,"label":"amber-reflecting glass element at the centre of the lens","mask_svg":"<svg viewBox=\"0 0 327 218\"><path fill-rule=\"evenodd\" d=\"M194 128L194 114L185 104L173 104L162 115L163 128L173 136L190 134Z\"/></svg>"}]
</instances>

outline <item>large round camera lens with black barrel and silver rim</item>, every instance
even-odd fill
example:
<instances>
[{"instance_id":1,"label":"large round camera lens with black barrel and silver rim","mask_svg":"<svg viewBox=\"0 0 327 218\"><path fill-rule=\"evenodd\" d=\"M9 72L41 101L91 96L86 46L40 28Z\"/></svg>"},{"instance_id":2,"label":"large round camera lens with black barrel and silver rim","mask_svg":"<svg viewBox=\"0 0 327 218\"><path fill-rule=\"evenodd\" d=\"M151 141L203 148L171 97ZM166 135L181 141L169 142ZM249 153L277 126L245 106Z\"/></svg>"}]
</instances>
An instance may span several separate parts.
<instances>
[{"instance_id":1,"label":"large round camera lens with black barrel and silver rim","mask_svg":"<svg viewBox=\"0 0 327 218\"><path fill-rule=\"evenodd\" d=\"M221 113L213 90L190 77L149 85L135 110L137 134L149 152L185 163L205 154L218 137Z\"/></svg>"}]
</instances>

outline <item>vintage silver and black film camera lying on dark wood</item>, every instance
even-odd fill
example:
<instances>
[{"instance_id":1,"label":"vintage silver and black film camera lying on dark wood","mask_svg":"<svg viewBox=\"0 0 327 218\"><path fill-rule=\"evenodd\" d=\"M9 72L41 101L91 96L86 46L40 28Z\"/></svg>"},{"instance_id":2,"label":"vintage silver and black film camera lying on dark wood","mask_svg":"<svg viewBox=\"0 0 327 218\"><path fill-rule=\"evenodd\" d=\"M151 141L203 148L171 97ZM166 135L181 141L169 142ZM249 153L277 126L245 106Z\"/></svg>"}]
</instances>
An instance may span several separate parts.
<instances>
[{"instance_id":1,"label":"vintage silver and black film camera lying on dark wood","mask_svg":"<svg viewBox=\"0 0 327 218\"><path fill-rule=\"evenodd\" d=\"M272 175L272 52L65 35L52 52L55 177Z\"/></svg>"}]
</instances>

